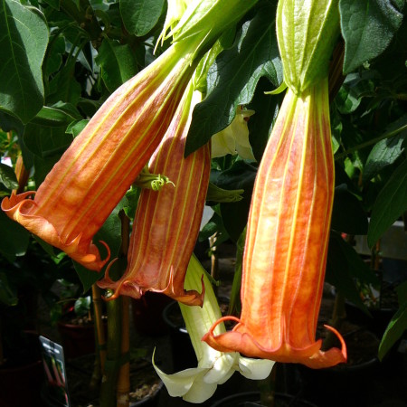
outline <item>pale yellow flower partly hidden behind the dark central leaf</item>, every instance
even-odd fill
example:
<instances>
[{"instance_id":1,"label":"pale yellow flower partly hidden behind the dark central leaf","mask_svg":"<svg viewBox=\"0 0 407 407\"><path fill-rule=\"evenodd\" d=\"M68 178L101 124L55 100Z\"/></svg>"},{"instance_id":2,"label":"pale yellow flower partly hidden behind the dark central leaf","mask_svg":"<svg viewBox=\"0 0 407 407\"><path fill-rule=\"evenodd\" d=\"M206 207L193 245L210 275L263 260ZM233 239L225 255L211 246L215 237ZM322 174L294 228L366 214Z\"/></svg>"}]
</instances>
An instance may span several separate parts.
<instances>
[{"instance_id":1,"label":"pale yellow flower partly hidden behind the dark central leaf","mask_svg":"<svg viewBox=\"0 0 407 407\"><path fill-rule=\"evenodd\" d=\"M238 154L241 158L254 160L251 144L249 142L249 128L247 120L254 114L253 110L244 109L239 106L232 123L219 133L213 135L212 156L232 156Z\"/></svg>"}]
</instances>

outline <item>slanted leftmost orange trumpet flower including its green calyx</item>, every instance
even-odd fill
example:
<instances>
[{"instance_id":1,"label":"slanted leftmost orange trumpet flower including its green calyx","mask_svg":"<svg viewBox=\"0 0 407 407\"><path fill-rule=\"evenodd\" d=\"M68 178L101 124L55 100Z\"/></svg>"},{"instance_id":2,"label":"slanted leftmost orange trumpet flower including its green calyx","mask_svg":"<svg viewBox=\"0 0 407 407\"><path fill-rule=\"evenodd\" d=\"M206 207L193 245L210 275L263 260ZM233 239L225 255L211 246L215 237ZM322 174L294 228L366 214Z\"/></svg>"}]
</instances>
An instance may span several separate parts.
<instances>
[{"instance_id":1,"label":"slanted leftmost orange trumpet flower including its green calyx","mask_svg":"<svg viewBox=\"0 0 407 407\"><path fill-rule=\"evenodd\" d=\"M255 1L227 3L195 0L188 6L175 43L106 100L36 193L5 198L5 213L73 260L100 270L109 248L101 260L93 236L166 133L194 64Z\"/></svg>"}]
</instances>

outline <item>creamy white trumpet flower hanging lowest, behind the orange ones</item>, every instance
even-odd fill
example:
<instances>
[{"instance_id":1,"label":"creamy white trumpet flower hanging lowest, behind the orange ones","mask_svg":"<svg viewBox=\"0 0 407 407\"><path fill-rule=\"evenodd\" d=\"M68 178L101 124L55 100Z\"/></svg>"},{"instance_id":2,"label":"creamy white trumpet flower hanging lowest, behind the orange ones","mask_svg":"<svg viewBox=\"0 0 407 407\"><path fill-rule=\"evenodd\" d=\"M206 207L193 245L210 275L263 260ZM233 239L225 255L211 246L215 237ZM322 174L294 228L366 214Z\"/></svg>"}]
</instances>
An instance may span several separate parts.
<instances>
[{"instance_id":1,"label":"creamy white trumpet flower hanging lowest, behind the orange ones","mask_svg":"<svg viewBox=\"0 0 407 407\"><path fill-rule=\"evenodd\" d=\"M274 365L270 360L250 359L236 352L218 352L201 341L207 329L221 317L221 311L205 270L193 256L186 273L185 288L199 289L202 281L205 286L204 307L188 307L179 304L185 327L194 346L198 360L197 367L175 374L165 374L153 360L156 373L166 385L168 393L173 397L183 397L186 402L204 402L209 399L218 384L225 383L236 371L248 379L261 380L270 374ZM223 324L216 327L216 332L219 334L225 331Z\"/></svg>"}]
</instances>

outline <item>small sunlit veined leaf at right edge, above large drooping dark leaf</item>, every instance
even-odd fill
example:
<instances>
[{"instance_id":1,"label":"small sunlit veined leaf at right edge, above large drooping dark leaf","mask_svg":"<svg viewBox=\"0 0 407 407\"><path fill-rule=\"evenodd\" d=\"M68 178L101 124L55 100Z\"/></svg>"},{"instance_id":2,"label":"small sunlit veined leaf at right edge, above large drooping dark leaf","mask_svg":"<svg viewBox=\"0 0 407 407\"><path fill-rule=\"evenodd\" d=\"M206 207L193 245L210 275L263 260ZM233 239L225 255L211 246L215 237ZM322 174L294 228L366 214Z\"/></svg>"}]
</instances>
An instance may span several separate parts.
<instances>
[{"instance_id":1,"label":"small sunlit veined leaf at right edge, above large drooping dark leaf","mask_svg":"<svg viewBox=\"0 0 407 407\"><path fill-rule=\"evenodd\" d=\"M407 126L407 115L402 116L386 128L386 133L397 131L399 128ZM407 129L403 130L395 137L385 138L374 145L367 157L364 165L364 182L371 180L378 175L383 168L392 165L404 150L402 144L407 138Z\"/></svg>"}]
</instances>

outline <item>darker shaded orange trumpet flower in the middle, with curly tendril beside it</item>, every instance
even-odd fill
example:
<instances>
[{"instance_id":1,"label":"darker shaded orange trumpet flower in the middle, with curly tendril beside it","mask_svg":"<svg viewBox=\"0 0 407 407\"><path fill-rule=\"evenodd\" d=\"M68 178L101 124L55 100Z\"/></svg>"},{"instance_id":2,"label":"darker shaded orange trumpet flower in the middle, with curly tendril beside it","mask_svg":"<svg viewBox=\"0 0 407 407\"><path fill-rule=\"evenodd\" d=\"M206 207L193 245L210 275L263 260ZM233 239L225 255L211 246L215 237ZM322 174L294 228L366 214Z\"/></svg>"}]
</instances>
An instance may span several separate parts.
<instances>
[{"instance_id":1,"label":"darker shaded orange trumpet flower in the middle, with curly tendril beside it","mask_svg":"<svg viewBox=\"0 0 407 407\"><path fill-rule=\"evenodd\" d=\"M140 298L146 291L163 292L187 304L202 305L204 290L185 292L184 280L199 233L209 184L209 144L184 157L185 140L194 105L201 100L191 81L160 146L151 157L149 171L165 174L174 185L160 191L143 189L137 204L128 249L128 268L118 281L109 272L98 282L114 294Z\"/></svg>"}]
</instances>

